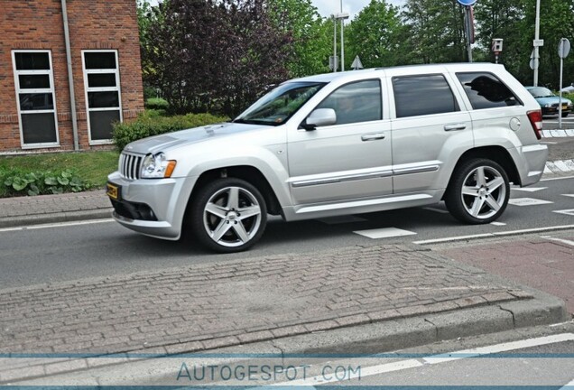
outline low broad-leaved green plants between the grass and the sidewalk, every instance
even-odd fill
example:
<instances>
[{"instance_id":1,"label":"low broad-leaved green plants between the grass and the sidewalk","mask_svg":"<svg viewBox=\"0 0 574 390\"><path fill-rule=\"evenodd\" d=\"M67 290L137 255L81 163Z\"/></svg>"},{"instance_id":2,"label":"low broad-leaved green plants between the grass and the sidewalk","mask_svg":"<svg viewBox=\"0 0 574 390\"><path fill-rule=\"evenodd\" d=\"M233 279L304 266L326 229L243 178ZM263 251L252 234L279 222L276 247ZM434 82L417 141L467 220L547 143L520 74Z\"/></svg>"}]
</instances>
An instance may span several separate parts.
<instances>
[{"instance_id":1,"label":"low broad-leaved green plants between the grass and the sidewalk","mask_svg":"<svg viewBox=\"0 0 574 390\"><path fill-rule=\"evenodd\" d=\"M82 180L77 170L26 171L0 167L0 198L79 192L90 188L91 183Z\"/></svg>"}]
</instances>

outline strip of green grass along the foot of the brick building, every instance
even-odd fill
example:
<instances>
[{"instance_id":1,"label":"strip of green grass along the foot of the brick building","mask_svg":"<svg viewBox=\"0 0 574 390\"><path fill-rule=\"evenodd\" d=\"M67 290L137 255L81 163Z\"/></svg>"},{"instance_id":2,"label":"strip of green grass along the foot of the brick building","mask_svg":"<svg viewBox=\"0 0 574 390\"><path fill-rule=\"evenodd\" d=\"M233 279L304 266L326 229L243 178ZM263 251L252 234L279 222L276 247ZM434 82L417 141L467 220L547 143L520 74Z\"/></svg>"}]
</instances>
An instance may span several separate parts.
<instances>
[{"instance_id":1,"label":"strip of green grass along the foot of the brick building","mask_svg":"<svg viewBox=\"0 0 574 390\"><path fill-rule=\"evenodd\" d=\"M0 156L0 170L16 168L36 172L75 169L81 179L98 189L106 185L109 173L117 171L118 158L116 151L6 155Z\"/></svg>"}]
</instances>

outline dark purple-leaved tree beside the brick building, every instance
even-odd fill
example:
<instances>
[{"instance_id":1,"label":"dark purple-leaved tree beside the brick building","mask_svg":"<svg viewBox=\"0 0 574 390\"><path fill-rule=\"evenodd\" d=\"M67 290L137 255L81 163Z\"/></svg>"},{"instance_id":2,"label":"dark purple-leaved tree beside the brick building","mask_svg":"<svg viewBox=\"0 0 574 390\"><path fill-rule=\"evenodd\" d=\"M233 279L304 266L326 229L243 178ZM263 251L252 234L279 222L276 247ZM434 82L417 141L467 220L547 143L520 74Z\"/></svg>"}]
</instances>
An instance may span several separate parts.
<instances>
[{"instance_id":1,"label":"dark purple-leaved tree beside the brick building","mask_svg":"<svg viewBox=\"0 0 574 390\"><path fill-rule=\"evenodd\" d=\"M170 0L153 7L144 77L171 111L235 116L270 84L287 79L291 40L262 0Z\"/></svg>"}]
</instances>

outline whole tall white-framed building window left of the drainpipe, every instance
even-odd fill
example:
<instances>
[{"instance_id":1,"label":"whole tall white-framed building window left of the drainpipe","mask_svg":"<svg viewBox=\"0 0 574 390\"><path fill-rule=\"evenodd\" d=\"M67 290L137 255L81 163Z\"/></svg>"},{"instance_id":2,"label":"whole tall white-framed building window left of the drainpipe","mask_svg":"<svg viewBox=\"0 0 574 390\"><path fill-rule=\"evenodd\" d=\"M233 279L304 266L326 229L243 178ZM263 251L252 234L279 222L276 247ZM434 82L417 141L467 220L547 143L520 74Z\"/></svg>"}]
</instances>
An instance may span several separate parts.
<instances>
[{"instance_id":1,"label":"whole tall white-framed building window left of the drainpipe","mask_svg":"<svg viewBox=\"0 0 574 390\"><path fill-rule=\"evenodd\" d=\"M51 51L12 51L23 148L60 145Z\"/></svg>"}]
</instances>

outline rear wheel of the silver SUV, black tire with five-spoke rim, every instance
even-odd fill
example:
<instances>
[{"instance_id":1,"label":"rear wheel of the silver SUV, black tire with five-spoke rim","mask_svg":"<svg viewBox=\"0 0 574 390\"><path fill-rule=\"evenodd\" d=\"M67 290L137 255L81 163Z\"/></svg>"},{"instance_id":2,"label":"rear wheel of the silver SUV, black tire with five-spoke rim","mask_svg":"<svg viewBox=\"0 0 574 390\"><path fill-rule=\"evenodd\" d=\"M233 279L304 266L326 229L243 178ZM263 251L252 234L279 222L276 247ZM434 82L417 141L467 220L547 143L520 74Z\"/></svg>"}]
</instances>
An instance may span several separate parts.
<instances>
[{"instance_id":1,"label":"rear wheel of the silver SUV, black tire with five-spoke rim","mask_svg":"<svg viewBox=\"0 0 574 390\"><path fill-rule=\"evenodd\" d=\"M486 224L505 212L510 183L503 167L492 160L473 159L452 173L444 200L450 214L468 224Z\"/></svg>"}]
</instances>

